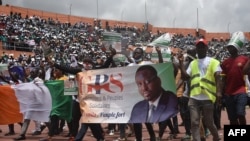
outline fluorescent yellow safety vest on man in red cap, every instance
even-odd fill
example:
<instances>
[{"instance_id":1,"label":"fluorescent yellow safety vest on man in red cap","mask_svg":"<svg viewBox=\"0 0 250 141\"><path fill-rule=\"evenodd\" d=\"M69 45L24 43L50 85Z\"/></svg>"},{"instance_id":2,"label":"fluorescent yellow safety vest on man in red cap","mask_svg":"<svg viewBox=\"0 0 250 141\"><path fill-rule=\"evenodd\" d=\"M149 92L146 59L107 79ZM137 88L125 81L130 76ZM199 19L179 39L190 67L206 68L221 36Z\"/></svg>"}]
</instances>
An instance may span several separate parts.
<instances>
[{"instance_id":1,"label":"fluorescent yellow safety vest on man in red cap","mask_svg":"<svg viewBox=\"0 0 250 141\"><path fill-rule=\"evenodd\" d=\"M191 62L191 84L190 84L190 96L196 96L199 94L206 94L209 99L214 103L216 100L216 82L214 72L216 71L220 62L211 58L207 67L207 71L204 77L200 76L200 70L198 67L198 60L195 59Z\"/></svg>"}]
</instances>

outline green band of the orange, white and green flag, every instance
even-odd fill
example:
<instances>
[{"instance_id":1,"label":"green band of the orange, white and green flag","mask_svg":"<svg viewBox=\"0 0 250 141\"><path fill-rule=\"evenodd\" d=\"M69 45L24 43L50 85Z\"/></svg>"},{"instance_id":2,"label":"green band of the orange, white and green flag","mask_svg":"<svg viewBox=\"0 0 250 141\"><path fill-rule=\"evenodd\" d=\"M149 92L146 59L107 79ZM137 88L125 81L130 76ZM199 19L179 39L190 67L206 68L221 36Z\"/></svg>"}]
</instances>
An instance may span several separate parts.
<instances>
[{"instance_id":1,"label":"green band of the orange, white and green flag","mask_svg":"<svg viewBox=\"0 0 250 141\"><path fill-rule=\"evenodd\" d=\"M64 95L64 81L51 80L46 81L52 97L52 110L50 115L57 115L61 119L70 121L72 119L72 96Z\"/></svg>"}]
</instances>

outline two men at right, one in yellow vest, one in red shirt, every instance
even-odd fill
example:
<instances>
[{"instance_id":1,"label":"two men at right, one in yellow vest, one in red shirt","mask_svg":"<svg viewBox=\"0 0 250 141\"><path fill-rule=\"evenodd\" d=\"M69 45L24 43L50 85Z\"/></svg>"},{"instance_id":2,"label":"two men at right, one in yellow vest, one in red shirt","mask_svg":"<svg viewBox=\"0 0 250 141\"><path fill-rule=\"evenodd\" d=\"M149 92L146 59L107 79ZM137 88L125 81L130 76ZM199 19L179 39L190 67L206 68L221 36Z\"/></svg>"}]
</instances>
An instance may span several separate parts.
<instances>
[{"instance_id":1,"label":"two men at right, one in yellow vest, one in red shirt","mask_svg":"<svg viewBox=\"0 0 250 141\"><path fill-rule=\"evenodd\" d=\"M222 98L230 125L246 125L247 90L245 77L248 77L250 60L240 55L244 45L244 34L235 32L226 46L230 57L219 62L208 57L208 43L205 39L197 40L195 47L197 59L187 69L180 56L182 78L189 81L189 110L193 141L200 141L200 121L213 136L213 141L221 138L214 123L215 105L221 105Z\"/></svg>"}]
</instances>

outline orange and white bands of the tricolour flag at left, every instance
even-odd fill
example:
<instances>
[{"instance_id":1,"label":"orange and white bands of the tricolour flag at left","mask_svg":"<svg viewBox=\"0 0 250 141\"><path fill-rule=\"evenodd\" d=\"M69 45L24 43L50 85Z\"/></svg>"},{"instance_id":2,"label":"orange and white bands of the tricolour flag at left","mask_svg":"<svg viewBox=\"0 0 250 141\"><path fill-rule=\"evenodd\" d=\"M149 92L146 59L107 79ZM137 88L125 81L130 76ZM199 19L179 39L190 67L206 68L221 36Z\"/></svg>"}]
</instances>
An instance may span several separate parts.
<instances>
[{"instance_id":1,"label":"orange and white bands of the tricolour flag at left","mask_svg":"<svg viewBox=\"0 0 250 141\"><path fill-rule=\"evenodd\" d=\"M23 119L48 122L52 99L43 82L0 86L0 124Z\"/></svg>"}]
</instances>

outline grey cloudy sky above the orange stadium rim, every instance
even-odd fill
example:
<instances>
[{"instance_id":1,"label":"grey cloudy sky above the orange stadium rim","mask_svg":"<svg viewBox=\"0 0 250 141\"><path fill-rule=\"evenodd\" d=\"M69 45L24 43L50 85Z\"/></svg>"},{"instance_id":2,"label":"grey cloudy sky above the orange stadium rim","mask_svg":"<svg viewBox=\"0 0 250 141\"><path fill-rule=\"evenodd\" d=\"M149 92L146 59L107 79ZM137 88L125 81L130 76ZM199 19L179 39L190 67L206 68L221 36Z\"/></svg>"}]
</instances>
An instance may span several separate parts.
<instances>
[{"instance_id":1,"label":"grey cloudy sky above the orange stadium rim","mask_svg":"<svg viewBox=\"0 0 250 141\"><path fill-rule=\"evenodd\" d=\"M98 19L201 28L207 32L250 32L250 0L2 0L37 10Z\"/></svg>"}]
</instances>

